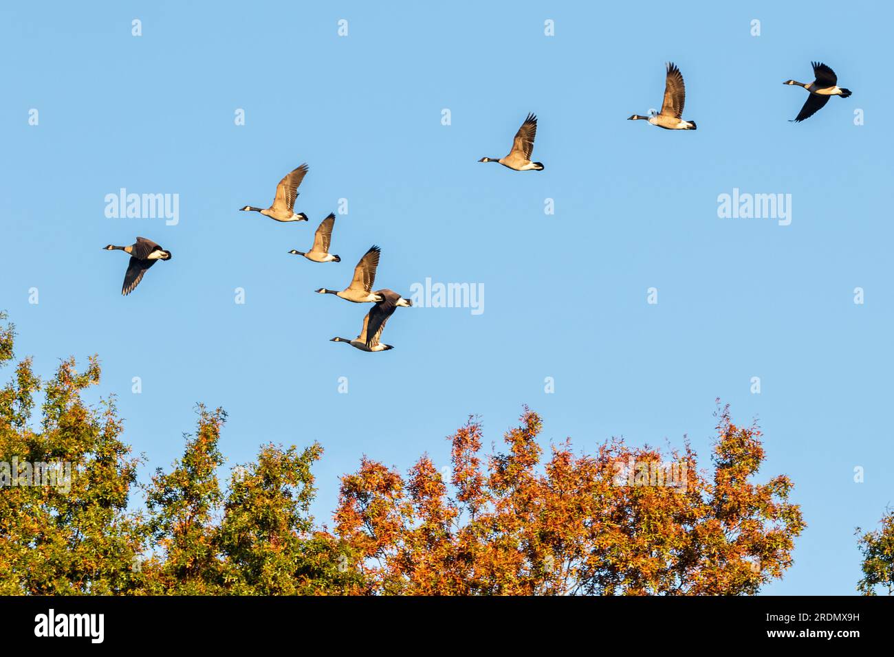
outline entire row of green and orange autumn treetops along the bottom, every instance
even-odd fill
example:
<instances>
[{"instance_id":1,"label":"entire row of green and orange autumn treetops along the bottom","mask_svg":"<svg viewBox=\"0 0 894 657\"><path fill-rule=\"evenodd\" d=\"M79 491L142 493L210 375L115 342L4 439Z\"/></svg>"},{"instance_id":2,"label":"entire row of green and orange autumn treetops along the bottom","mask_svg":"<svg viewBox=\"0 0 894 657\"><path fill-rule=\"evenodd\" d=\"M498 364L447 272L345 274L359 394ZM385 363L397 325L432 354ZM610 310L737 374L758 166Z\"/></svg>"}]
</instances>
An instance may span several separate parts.
<instances>
[{"instance_id":1,"label":"entire row of green and orange autumn treetops along the bottom","mask_svg":"<svg viewBox=\"0 0 894 657\"><path fill-rule=\"evenodd\" d=\"M4 320L0 366L14 361ZM427 455L406 475L364 456L329 531L309 512L317 442L261 445L222 485L226 414L198 404L181 458L140 484L114 399L81 400L99 381L97 357L48 381L24 358L0 391L0 594L755 594L805 527L787 476L756 481L760 431L728 408L710 476L688 444L544 456L527 408L485 454L469 417L446 476ZM863 539L867 586L890 586L886 522Z\"/></svg>"}]
</instances>

